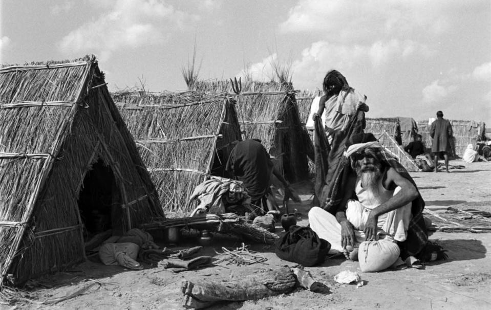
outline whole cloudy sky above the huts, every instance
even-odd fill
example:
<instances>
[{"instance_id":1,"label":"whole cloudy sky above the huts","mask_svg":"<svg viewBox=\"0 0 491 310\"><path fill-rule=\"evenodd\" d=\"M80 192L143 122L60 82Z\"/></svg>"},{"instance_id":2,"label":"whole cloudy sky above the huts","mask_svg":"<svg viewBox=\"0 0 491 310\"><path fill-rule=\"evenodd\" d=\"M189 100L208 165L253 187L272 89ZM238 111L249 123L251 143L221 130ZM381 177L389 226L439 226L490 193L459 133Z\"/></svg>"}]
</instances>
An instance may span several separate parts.
<instances>
[{"instance_id":1,"label":"whole cloudy sky above the huts","mask_svg":"<svg viewBox=\"0 0 491 310\"><path fill-rule=\"evenodd\" d=\"M202 79L291 64L295 88L315 90L336 69L369 117L491 126L489 0L2 0L0 16L1 63L95 54L111 90L184 90L196 41Z\"/></svg>"}]
</instances>

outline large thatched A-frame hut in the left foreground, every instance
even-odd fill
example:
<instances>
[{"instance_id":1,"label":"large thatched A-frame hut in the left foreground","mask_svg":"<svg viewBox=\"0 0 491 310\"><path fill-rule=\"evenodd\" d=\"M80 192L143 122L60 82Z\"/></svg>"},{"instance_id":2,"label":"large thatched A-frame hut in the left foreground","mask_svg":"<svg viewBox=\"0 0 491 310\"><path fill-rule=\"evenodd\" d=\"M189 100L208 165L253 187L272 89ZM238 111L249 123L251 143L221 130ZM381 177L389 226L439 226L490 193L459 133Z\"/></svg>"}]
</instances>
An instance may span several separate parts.
<instances>
[{"instance_id":1,"label":"large thatched A-frame hut in the left foreground","mask_svg":"<svg viewBox=\"0 0 491 310\"><path fill-rule=\"evenodd\" d=\"M163 216L105 84L93 56L0 69L2 283L83 261L98 229Z\"/></svg>"}]
</instances>

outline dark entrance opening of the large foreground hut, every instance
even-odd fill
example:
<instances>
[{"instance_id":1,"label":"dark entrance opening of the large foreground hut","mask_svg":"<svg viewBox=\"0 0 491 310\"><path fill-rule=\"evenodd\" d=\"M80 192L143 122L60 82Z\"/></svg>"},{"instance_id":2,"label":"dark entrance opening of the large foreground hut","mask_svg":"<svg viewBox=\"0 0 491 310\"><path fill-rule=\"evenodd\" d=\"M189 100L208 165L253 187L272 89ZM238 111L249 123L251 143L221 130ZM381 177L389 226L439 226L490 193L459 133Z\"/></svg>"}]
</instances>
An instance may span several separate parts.
<instances>
[{"instance_id":1,"label":"dark entrance opening of the large foreground hut","mask_svg":"<svg viewBox=\"0 0 491 310\"><path fill-rule=\"evenodd\" d=\"M120 205L119 196L113 170L99 159L87 172L78 197L86 241L98 233L113 229L115 211Z\"/></svg>"}]
</instances>

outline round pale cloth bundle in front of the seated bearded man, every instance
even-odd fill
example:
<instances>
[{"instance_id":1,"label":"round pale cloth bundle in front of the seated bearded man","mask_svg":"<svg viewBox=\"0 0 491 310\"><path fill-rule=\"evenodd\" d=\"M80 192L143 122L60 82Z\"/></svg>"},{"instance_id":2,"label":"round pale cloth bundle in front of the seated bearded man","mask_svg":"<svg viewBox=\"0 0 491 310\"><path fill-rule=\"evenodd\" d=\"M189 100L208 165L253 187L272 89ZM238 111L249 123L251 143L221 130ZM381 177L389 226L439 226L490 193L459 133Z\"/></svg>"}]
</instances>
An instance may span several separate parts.
<instances>
[{"instance_id":1,"label":"round pale cloth bundle in front of the seated bearded man","mask_svg":"<svg viewBox=\"0 0 491 310\"><path fill-rule=\"evenodd\" d=\"M361 242L358 250L358 261L361 272L377 272L391 267L399 258L397 243L386 236L379 240Z\"/></svg>"}]
</instances>

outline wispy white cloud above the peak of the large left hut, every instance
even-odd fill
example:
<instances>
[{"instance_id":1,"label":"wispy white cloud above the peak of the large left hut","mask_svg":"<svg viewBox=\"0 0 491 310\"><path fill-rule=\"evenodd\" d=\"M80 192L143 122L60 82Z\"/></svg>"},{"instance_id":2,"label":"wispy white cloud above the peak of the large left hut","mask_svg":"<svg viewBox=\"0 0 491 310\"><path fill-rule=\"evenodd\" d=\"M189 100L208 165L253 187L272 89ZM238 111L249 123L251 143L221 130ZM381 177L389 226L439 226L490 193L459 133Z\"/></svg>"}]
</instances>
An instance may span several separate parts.
<instances>
[{"instance_id":1,"label":"wispy white cloud above the peak of the large left hut","mask_svg":"<svg viewBox=\"0 0 491 310\"><path fill-rule=\"evenodd\" d=\"M158 0L117 0L104 6L109 11L59 41L63 53L95 53L107 59L117 49L160 44L197 18Z\"/></svg>"}]
</instances>

